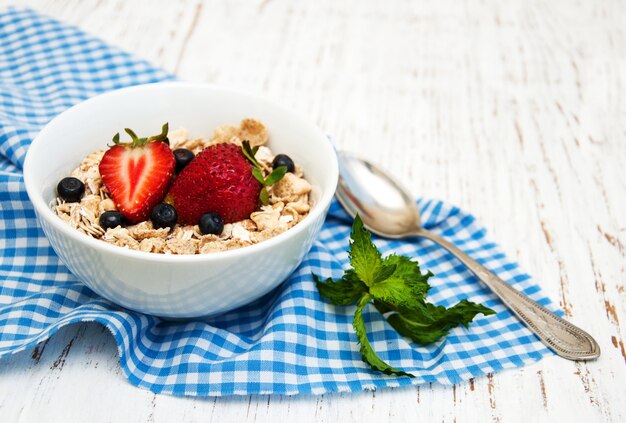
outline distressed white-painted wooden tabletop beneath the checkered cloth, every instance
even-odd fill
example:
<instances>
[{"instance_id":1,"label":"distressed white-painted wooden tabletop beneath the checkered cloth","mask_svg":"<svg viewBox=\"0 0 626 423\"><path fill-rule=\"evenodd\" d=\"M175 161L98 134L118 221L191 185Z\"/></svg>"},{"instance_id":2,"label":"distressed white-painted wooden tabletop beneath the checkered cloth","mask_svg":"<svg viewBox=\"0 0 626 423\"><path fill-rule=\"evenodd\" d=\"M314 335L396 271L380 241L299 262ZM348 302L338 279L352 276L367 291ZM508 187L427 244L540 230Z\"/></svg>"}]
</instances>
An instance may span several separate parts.
<instances>
[{"instance_id":1,"label":"distressed white-painted wooden tabletop beneath the checkered cloth","mask_svg":"<svg viewBox=\"0 0 626 423\"><path fill-rule=\"evenodd\" d=\"M0 421L626 420L623 2L22 3L182 79L273 97L472 211L602 357L454 387L175 398L131 386L85 324L0 360Z\"/></svg>"}]
</instances>

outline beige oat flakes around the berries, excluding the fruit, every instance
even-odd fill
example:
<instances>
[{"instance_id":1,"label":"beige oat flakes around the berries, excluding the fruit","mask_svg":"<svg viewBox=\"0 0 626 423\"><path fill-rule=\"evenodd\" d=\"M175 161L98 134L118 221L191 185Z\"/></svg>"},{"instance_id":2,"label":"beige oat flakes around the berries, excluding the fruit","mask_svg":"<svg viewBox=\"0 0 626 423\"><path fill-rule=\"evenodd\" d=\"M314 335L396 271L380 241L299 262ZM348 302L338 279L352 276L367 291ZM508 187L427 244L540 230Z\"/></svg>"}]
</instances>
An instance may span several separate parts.
<instances>
[{"instance_id":1,"label":"beige oat flakes around the berries, excluding the fruit","mask_svg":"<svg viewBox=\"0 0 626 423\"><path fill-rule=\"evenodd\" d=\"M254 119L244 119L239 126L224 125L210 138L190 138L185 129L170 132L171 148L186 148L195 154L220 143L241 145L244 140L259 147L256 159L266 175L272 170L274 154L265 145L268 132ZM268 187L269 204L259 207L248 219L224 225L220 235L204 235L198 225L176 224L173 228L155 228L150 220L104 230L99 218L105 211L116 210L98 171L103 150L87 155L71 176L85 185L80 202L65 202L57 197L53 204L56 214L72 228L104 242L132 250L158 254L207 254L253 245L298 224L311 207L311 185L296 164L293 173Z\"/></svg>"}]
</instances>

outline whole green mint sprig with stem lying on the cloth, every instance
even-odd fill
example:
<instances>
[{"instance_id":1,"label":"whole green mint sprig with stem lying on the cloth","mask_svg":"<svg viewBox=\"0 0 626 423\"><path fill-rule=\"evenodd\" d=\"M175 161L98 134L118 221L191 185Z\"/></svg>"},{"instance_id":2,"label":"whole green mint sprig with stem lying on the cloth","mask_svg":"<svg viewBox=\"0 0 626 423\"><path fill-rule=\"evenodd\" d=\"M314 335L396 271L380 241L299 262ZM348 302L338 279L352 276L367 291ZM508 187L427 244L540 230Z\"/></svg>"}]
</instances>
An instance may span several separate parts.
<instances>
[{"instance_id":1,"label":"whole green mint sprig with stem lying on the cloth","mask_svg":"<svg viewBox=\"0 0 626 423\"><path fill-rule=\"evenodd\" d=\"M436 306L426 301L431 272L422 274L419 264L408 257L395 254L382 257L371 240L371 234L357 215L350 234L349 247L352 269L337 281L321 280L313 274L320 295L332 304L346 306L357 303L352 325L360 344L363 361L373 369L389 375L413 377L385 363L367 339L363 310L373 301L381 314L401 335L417 344L429 344L446 336L459 325L467 327L474 317L495 312L483 305L462 300L453 307Z\"/></svg>"}]
</instances>

